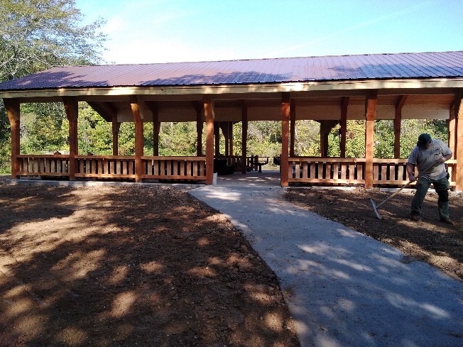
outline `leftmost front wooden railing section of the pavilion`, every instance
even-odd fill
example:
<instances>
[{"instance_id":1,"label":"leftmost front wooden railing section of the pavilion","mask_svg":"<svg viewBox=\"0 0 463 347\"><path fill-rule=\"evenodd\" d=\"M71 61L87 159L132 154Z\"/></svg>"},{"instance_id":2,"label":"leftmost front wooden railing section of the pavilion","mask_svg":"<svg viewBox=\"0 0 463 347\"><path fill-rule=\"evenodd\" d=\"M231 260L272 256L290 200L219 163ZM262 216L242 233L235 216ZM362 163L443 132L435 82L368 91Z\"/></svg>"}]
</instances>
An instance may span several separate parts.
<instances>
[{"instance_id":1,"label":"leftmost front wooden railing section of the pavilion","mask_svg":"<svg viewBox=\"0 0 463 347\"><path fill-rule=\"evenodd\" d=\"M69 176L69 155L17 155L18 176Z\"/></svg>"}]
</instances>

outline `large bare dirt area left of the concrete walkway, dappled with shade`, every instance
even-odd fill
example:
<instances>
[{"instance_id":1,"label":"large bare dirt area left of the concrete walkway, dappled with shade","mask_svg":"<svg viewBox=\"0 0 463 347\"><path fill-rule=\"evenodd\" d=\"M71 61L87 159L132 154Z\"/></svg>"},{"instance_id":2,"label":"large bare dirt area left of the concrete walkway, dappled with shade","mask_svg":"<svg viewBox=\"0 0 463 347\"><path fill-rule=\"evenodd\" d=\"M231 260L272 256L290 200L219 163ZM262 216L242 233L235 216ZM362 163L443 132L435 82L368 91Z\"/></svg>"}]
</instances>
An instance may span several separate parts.
<instances>
[{"instance_id":1,"label":"large bare dirt area left of the concrete walkway, dappled with shade","mask_svg":"<svg viewBox=\"0 0 463 347\"><path fill-rule=\"evenodd\" d=\"M0 181L0 346L299 343L274 273L187 192Z\"/></svg>"}]
</instances>

